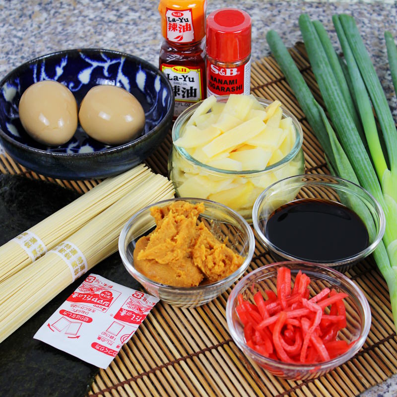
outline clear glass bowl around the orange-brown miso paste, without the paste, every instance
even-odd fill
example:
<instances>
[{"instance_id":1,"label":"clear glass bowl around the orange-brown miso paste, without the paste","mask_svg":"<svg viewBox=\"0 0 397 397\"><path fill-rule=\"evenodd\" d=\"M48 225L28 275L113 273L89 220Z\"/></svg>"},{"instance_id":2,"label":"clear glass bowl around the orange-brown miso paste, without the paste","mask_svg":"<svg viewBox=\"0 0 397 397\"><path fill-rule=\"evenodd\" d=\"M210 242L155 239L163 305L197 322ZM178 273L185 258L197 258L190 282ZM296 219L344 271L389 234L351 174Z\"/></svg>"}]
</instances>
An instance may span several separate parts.
<instances>
[{"instance_id":1,"label":"clear glass bowl around the orange-brown miso paste, without the paste","mask_svg":"<svg viewBox=\"0 0 397 397\"><path fill-rule=\"evenodd\" d=\"M199 216L211 233L220 241L227 238L226 245L244 258L243 264L232 274L219 281L199 285L197 287L175 287L153 281L138 272L133 263L133 250L136 241L143 235L151 232L155 227L154 218L150 215L153 206L166 206L173 201L168 199L151 204L137 212L127 222L119 238L119 252L123 264L128 272L146 290L171 305L181 307L195 307L203 305L220 295L229 288L247 269L255 250L254 233L248 223L235 211L218 202L184 198L192 204L203 202L205 210Z\"/></svg>"}]
</instances>

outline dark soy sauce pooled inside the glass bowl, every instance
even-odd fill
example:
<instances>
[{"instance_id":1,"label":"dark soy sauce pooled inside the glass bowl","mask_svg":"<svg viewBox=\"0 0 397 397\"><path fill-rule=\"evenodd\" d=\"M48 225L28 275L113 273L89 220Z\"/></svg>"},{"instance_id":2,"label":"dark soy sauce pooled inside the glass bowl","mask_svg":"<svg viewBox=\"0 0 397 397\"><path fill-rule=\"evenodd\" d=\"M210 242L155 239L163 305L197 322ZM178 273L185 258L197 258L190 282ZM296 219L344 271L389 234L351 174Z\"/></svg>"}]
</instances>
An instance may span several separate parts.
<instances>
[{"instance_id":1,"label":"dark soy sauce pooled inside the glass bowl","mask_svg":"<svg viewBox=\"0 0 397 397\"><path fill-rule=\"evenodd\" d=\"M265 235L286 254L314 262L338 261L368 247L368 231L358 215L323 199L299 199L277 208Z\"/></svg>"}]
</instances>

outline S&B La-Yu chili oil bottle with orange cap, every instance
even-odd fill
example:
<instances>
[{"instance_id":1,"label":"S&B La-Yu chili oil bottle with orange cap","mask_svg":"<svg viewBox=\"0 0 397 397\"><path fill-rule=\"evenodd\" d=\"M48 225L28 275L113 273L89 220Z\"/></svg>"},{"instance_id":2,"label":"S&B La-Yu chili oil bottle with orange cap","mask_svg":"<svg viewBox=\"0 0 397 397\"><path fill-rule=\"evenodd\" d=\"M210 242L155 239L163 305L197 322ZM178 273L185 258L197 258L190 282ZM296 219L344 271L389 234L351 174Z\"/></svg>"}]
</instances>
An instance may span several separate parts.
<instances>
[{"instance_id":1,"label":"S&B La-Yu chili oil bottle with orange cap","mask_svg":"<svg viewBox=\"0 0 397 397\"><path fill-rule=\"evenodd\" d=\"M173 87L174 117L206 97L205 7L206 0L160 0L158 7L165 39L159 68Z\"/></svg>"}]
</instances>

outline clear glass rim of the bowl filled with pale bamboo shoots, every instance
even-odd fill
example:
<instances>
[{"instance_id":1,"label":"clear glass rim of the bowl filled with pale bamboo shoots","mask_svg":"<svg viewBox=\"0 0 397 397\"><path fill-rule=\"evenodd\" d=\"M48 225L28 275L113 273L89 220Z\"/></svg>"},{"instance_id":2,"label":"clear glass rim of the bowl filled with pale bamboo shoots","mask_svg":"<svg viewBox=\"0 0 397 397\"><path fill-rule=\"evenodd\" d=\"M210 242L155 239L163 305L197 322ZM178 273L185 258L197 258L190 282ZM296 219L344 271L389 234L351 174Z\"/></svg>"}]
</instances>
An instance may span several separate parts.
<instances>
[{"instance_id":1,"label":"clear glass rim of the bowl filled with pale bamboo shoots","mask_svg":"<svg viewBox=\"0 0 397 397\"><path fill-rule=\"evenodd\" d=\"M262 103L264 105L269 105L274 102L274 101L271 101L271 100L268 100L265 98L257 97L255 95L253 95L253 96L255 97L255 99L257 99L260 103ZM217 102L226 102L228 98L229 98L229 95L220 95L220 96L216 97L216 101ZM292 124L294 126L295 132L298 134L298 139L295 140L295 143L294 143L292 149L281 160L277 161L274 164L271 164L270 166L266 167L263 170L242 170L242 171L223 170L221 168L215 168L215 167L211 167L207 164L201 163L199 160L195 159L188 152L186 152L185 149L181 148L180 146L176 146L174 144L174 141L176 140L175 135L176 135L177 131L178 132L180 131L180 129L183 126L183 124L185 123L185 121L187 121L187 119L193 114L193 112L199 107L199 105L201 103L202 103L202 101L197 102L194 105L190 106L189 108L185 109L176 119L174 125L172 126L172 133L171 133L172 134L172 147L175 147L177 152L186 161L188 161L189 163L191 163L195 166L199 166L209 172L212 172L214 174L220 174L220 175L249 175L249 176L257 176L258 175L259 176L263 173L268 173L268 172L275 171L275 170L281 168L282 166L284 166L285 164L290 162L293 158L295 158L295 156L299 153L299 151L302 148L302 144L303 144L302 126L299 123L298 119L289 110L285 109L285 107L283 105L281 105L280 107L281 107L283 116L290 117L292 119Z\"/></svg>"}]
</instances>

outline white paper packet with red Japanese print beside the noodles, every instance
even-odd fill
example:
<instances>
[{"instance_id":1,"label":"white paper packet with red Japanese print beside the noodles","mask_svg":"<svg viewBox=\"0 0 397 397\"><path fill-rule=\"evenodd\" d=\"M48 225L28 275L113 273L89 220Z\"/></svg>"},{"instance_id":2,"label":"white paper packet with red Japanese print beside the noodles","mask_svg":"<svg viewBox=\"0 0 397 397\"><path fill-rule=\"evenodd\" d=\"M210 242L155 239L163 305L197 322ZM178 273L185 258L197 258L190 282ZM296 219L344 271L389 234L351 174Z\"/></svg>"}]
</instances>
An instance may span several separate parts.
<instances>
[{"instance_id":1,"label":"white paper packet with red Japanese print beside the noodles","mask_svg":"<svg viewBox=\"0 0 397 397\"><path fill-rule=\"evenodd\" d=\"M158 298L90 274L34 335L107 368Z\"/></svg>"}]
</instances>

